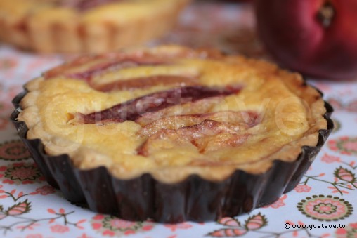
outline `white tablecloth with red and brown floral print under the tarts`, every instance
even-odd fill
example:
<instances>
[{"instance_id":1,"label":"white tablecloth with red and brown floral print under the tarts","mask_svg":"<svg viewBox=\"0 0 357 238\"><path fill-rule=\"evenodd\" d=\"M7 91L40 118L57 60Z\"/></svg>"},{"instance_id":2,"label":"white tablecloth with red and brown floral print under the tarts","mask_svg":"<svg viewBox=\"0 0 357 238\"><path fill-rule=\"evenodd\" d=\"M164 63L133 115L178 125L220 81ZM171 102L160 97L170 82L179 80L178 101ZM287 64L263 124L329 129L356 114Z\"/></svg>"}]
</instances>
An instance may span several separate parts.
<instances>
[{"instance_id":1,"label":"white tablecloth with red and brown floral print under the tarts","mask_svg":"<svg viewBox=\"0 0 357 238\"><path fill-rule=\"evenodd\" d=\"M269 59L254 33L249 4L197 1L162 42ZM46 183L22 145L8 119L11 99L26 81L64 59L0 45L0 237L357 237L357 80L310 80L335 107L336 128L292 192L243 216L162 225L71 204Z\"/></svg>"}]
</instances>

